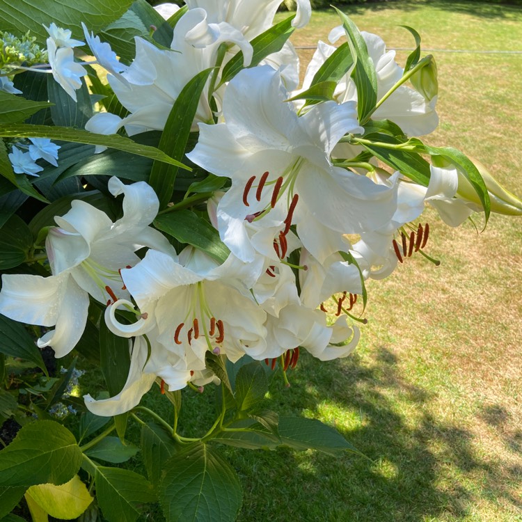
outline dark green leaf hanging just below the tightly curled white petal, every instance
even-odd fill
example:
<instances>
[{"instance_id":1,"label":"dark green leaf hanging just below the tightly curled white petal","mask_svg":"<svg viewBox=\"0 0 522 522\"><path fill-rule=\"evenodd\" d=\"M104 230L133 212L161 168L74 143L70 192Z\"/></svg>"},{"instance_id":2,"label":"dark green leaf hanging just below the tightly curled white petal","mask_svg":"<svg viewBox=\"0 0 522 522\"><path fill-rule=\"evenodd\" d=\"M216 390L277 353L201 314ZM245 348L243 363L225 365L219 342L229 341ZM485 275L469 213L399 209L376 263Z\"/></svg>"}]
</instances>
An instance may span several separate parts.
<instances>
[{"instance_id":1,"label":"dark green leaf hanging just below the tightly curled white petal","mask_svg":"<svg viewBox=\"0 0 522 522\"><path fill-rule=\"evenodd\" d=\"M129 339L114 335L100 322L100 362L109 395L118 395L129 375Z\"/></svg>"}]
</instances>

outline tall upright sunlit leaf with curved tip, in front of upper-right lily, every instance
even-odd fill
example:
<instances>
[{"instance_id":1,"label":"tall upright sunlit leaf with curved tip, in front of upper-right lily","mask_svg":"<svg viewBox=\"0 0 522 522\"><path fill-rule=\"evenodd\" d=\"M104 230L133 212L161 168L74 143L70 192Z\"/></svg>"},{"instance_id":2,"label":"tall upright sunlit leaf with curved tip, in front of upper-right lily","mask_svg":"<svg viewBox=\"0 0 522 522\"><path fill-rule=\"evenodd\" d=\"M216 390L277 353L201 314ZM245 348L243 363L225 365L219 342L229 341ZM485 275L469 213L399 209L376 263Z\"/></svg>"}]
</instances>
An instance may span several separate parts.
<instances>
[{"instance_id":1,"label":"tall upright sunlit leaf with curved tip, in front of upper-right lily","mask_svg":"<svg viewBox=\"0 0 522 522\"><path fill-rule=\"evenodd\" d=\"M368 54L366 42L357 29L356 24L339 9L335 8L335 10L348 35L348 45L355 63L351 77L354 79L357 89L357 112L359 121L364 124L367 116L374 111L377 104L377 73L375 72L375 65Z\"/></svg>"}]
</instances>

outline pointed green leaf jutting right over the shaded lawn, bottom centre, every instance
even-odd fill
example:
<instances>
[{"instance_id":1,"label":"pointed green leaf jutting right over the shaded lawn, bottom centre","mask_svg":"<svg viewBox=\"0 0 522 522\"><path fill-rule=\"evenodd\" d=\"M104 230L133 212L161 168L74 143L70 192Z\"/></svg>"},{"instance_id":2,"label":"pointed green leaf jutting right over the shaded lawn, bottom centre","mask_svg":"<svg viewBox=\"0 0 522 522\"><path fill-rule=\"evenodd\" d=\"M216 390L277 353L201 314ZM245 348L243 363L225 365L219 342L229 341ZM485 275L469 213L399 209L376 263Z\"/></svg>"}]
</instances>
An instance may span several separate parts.
<instances>
[{"instance_id":1,"label":"pointed green leaf jutting right over the shaded lawn, bottom centre","mask_svg":"<svg viewBox=\"0 0 522 522\"><path fill-rule=\"evenodd\" d=\"M359 453L339 432L316 419L280 417L281 443L296 450L319 450L337 456L340 451Z\"/></svg>"}]
</instances>

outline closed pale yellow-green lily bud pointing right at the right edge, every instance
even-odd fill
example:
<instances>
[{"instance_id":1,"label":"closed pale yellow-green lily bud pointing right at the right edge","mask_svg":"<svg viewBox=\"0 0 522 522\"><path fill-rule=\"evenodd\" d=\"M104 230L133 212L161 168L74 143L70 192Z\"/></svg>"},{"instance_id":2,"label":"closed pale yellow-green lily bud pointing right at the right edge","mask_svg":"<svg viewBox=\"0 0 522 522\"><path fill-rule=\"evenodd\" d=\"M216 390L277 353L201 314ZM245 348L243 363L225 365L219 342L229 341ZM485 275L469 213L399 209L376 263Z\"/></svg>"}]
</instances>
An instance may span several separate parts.
<instances>
[{"instance_id":1,"label":"closed pale yellow-green lily bud pointing right at the right edge","mask_svg":"<svg viewBox=\"0 0 522 522\"><path fill-rule=\"evenodd\" d=\"M522 201L514 196L511 192L507 191L490 173L487 171L487 168L477 161L473 159L473 164L477 167L477 170L480 172L484 183L488 189L489 199L491 200L491 212L496 212L497 214L505 214L508 216L522 216ZM457 188L457 193L455 194L457 198L464 199L470 203L476 203L477 207L482 209L482 205L477 196L477 193L471 186L470 182L466 180L466 178L459 173L459 186Z\"/></svg>"}]
</instances>

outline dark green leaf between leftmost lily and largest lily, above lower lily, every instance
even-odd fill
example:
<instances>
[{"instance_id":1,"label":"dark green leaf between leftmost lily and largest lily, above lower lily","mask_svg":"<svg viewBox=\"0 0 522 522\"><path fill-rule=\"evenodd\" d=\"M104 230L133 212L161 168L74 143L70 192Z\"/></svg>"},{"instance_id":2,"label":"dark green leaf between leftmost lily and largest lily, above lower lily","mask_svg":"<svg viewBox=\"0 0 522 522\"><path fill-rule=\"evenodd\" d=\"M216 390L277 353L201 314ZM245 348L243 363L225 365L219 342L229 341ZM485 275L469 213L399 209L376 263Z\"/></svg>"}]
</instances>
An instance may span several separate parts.
<instances>
[{"instance_id":1,"label":"dark green leaf between leftmost lily and largest lily, above lower lily","mask_svg":"<svg viewBox=\"0 0 522 522\"><path fill-rule=\"evenodd\" d=\"M199 248L220 263L225 262L230 255L228 248L219 239L219 232L190 210L160 214L155 219L154 226L175 237L180 243Z\"/></svg>"}]
</instances>

